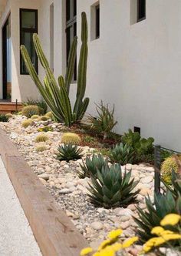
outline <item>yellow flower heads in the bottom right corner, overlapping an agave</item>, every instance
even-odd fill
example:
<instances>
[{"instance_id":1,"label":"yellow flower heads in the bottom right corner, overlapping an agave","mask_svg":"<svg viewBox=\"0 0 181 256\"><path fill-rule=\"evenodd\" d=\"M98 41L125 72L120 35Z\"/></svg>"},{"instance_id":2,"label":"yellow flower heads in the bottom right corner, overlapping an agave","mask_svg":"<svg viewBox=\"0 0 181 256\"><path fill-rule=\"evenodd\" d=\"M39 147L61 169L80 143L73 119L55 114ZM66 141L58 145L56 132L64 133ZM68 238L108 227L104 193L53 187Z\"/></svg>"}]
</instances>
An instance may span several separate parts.
<instances>
[{"instance_id":1,"label":"yellow flower heads in the bottom right corner, overlapping an agave","mask_svg":"<svg viewBox=\"0 0 181 256\"><path fill-rule=\"evenodd\" d=\"M172 227L172 231L166 229ZM150 238L143 244L143 253L158 250L160 247L169 248L180 255L181 251L181 215L167 214L160 221L160 226L153 227L151 234L156 237ZM174 243L171 243L174 241ZM173 245L174 244L174 245Z\"/></svg>"}]
</instances>

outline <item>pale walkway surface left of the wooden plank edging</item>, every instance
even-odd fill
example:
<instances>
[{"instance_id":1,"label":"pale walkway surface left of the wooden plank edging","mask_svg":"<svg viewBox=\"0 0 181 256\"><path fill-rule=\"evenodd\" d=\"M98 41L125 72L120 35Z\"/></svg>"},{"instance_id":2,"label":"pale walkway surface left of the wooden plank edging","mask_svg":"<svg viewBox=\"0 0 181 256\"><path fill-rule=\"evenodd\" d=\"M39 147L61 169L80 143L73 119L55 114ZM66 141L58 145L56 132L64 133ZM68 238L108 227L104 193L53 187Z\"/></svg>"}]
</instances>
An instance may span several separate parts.
<instances>
[{"instance_id":1,"label":"pale walkway surface left of the wooden plank edging","mask_svg":"<svg viewBox=\"0 0 181 256\"><path fill-rule=\"evenodd\" d=\"M0 255L41 256L0 157Z\"/></svg>"}]
</instances>

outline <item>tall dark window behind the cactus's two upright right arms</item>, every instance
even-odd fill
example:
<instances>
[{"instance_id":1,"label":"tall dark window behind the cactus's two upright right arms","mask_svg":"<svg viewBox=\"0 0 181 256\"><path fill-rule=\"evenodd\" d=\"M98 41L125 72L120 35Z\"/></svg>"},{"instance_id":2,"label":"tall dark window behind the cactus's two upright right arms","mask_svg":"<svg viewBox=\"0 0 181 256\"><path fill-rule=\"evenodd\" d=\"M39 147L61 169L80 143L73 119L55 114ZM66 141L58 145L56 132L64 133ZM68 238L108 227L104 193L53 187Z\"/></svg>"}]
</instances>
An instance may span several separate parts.
<instances>
[{"instance_id":1,"label":"tall dark window behind the cactus's two upright right arms","mask_svg":"<svg viewBox=\"0 0 181 256\"><path fill-rule=\"evenodd\" d=\"M66 0L66 55L67 61L71 44L77 35L77 0ZM74 66L74 81L77 80L77 59Z\"/></svg>"}]
</instances>

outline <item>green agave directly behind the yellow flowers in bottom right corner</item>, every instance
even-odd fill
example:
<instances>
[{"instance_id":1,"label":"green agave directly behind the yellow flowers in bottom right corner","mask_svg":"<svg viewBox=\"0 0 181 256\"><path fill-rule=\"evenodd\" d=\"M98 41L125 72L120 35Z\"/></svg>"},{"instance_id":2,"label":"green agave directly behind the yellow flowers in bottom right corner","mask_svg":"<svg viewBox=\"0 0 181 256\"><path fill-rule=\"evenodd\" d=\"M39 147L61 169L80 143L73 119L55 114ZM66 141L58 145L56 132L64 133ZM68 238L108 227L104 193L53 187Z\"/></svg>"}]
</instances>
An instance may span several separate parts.
<instances>
[{"instance_id":1,"label":"green agave directly behind the yellow flowers in bottom right corner","mask_svg":"<svg viewBox=\"0 0 181 256\"><path fill-rule=\"evenodd\" d=\"M155 194L154 199L153 204L150 197L146 197L146 211L137 207L139 218L133 217L139 227L137 234L143 243L154 237L154 234L151 234L151 230L153 227L160 226L160 221L166 214L179 212L179 201L176 202L170 191L167 191L166 194Z\"/></svg>"}]
</instances>

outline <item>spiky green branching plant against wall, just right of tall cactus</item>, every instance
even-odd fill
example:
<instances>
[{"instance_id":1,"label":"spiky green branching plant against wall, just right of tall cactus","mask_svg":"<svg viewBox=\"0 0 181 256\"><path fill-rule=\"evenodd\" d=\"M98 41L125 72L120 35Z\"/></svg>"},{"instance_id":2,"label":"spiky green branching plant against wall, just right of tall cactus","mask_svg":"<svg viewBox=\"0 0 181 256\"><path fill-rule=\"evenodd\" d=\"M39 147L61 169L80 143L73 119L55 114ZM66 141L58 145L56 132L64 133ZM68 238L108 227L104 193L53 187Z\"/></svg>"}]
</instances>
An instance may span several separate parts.
<instances>
[{"instance_id":1,"label":"spiky green branching plant against wall, just right of tall cactus","mask_svg":"<svg viewBox=\"0 0 181 256\"><path fill-rule=\"evenodd\" d=\"M97 105L98 116L87 116L88 123L91 123L91 129L100 133L106 139L110 132L113 130L114 126L117 125L117 121L114 120L114 108L109 109L108 104L104 105L101 101L100 105Z\"/></svg>"}]
</instances>

